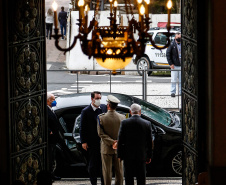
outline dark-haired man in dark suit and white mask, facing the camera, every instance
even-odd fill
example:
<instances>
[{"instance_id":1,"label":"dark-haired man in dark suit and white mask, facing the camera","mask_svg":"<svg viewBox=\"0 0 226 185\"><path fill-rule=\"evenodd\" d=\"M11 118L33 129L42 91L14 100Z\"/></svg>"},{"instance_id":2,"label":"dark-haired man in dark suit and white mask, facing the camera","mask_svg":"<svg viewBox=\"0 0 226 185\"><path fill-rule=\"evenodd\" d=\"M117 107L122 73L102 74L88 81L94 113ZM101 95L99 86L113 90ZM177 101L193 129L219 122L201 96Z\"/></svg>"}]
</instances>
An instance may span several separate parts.
<instances>
[{"instance_id":1,"label":"dark-haired man in dark suit and white mask, facing the camera","mask_svg":"<svg viewBox=\"0 0 226 185\"><path fill-rule=\"evenodd\" d=\"M107 106L100 104L100 100L101 93L92 92L91 104L81 112L80 138L82 148L88 151L88 171L92 185L97 184L99 174L101 174L101 184L104 184L101 170L100 138L97 133L97 116L107 112Z\"/></svg>"}]
</instances>

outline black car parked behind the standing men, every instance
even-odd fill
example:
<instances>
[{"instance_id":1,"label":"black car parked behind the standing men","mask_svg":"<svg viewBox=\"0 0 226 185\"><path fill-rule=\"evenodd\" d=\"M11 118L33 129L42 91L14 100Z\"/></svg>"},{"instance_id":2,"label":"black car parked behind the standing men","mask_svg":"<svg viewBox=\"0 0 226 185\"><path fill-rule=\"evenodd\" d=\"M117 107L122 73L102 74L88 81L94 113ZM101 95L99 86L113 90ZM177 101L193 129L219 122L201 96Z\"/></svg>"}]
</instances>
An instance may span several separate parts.
<instances>
[{"instance_id":1,"label":"black car parked behind the standing men","mask_svg":"<svg viewBox=\"0 0 226 185\"><path fill-rule=\"evenodd\" d=\"M153 159L147 165L147 176L180 176L182 174L182 132L180 113L168 112L156 105L139 98L111 93L121 102L117 107L119 113L128 118L129 107L138 103L142 108L142 117L151 121L154 139ZM102 103L106 102L109 93L102 93ZM70 167L78 169L78 177L87 175L87 153L82 149L79 127L81 110L91 103L90 93L63 95L56 98L57 106L54 111L59 118L65 146L57 144L56 173L70 176ZM66 149L65 149L66 148ZM64 173L66 172L66 173ZM81 174L83 172L83 174Z\"/></svg>"}]
</instances>

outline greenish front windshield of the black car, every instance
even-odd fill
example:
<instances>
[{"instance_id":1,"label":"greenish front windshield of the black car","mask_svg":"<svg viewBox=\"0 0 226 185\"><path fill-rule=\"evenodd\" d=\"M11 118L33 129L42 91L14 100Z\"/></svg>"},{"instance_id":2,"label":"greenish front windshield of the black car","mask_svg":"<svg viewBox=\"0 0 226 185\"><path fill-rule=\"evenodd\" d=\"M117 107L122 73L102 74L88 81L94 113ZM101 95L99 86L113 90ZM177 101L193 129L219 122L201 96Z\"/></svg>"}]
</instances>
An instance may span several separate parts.
<instances>
[{"instance_id":1,"label":"greenish front windshield of the black car","mask_svg":"<svg viewBox=\"0 0 226 185\"><path fill-rule=\"evenodd\" d=\"M170 113L168 113L164 109L135 97L134 102L141 106L141 113L144 114L145 116L148 116L152 120L155 120L163 125L166 126L170 125L171 123Z\"/></svg>"}]
</instances>

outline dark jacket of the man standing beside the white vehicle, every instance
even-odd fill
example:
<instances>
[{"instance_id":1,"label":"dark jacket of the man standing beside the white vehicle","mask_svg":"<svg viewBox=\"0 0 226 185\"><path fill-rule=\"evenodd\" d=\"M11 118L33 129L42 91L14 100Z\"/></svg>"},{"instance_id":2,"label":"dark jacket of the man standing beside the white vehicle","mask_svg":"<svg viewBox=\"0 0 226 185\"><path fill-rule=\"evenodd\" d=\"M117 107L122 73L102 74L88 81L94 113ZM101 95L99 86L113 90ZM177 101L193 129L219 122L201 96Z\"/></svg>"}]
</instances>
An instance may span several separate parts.
<instances>
[{"instance_id":1,"label":"dark jacket of the man standing beside the white vehicle","mask_svg":"<svg viewBox=\"0 0 226 185\"><path fill-rule=\"evenodd\" d=\"M175 40L171 42L170 46L167 48L166 58L169 65L174 64L175 66L181 66L178 49L177 49L177 43Z\"/></svg>"}]
</instances>

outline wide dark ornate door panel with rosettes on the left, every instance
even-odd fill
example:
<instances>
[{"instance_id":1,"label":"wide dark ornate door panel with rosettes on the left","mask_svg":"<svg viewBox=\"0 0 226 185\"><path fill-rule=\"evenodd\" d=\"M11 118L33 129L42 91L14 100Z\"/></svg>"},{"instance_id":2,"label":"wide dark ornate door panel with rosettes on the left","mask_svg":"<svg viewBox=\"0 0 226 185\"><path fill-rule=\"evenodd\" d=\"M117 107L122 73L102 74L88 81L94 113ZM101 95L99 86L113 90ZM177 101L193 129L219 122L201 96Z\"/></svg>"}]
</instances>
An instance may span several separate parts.
<instances>
[{"instance_id":1,"label":"wide dark ornate door panel with rosettes on the left","mask_svg":"<svg viewBox=\"0 0 226 185\"><path fill-rule=\"evenodd\" d=\"M5 12L8 92L6 181L34 184L47 168L45 1L8 0Z\"/></svg>"}]
</instances>

